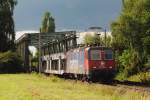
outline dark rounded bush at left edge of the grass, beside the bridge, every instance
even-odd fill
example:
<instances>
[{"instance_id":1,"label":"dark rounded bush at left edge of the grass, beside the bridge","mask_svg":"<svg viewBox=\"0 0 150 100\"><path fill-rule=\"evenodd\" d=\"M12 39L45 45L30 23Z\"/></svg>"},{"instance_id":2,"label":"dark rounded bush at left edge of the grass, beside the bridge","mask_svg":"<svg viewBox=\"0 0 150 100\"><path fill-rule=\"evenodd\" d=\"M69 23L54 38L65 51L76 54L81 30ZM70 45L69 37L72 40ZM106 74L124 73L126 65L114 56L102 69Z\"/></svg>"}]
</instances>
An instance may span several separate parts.
<instances>
[{"instance_id":1,"label":"dark rounded bush at left edge of the grass, beside the bridge","mask_svg":"<svg viewBox=\"0 0 150 100\"><path fill-rule=\"evenodd\" d=\"M22 60L15 52L0 53L0 73L22 72Z\"/></svg>"}]
</instances>

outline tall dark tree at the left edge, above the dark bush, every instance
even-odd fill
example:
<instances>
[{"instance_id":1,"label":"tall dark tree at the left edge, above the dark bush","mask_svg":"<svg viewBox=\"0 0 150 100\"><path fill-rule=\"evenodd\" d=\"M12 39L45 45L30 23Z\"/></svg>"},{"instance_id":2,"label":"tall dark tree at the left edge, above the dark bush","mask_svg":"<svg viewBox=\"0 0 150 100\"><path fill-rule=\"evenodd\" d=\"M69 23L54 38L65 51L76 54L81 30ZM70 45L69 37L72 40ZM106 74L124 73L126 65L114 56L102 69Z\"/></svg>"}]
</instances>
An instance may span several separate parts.
<instances>
[{"instance_id":1,"label":"tall dark tree at the left edge, above the dark bush","mask_svg":"<svg viewBox=\"0 0 150 100\"><path fill-rule=\"evenodd\" d=\"M0 52L14 49L13 10L16 0L0 0Z\"/></svg>"}]
</instances>

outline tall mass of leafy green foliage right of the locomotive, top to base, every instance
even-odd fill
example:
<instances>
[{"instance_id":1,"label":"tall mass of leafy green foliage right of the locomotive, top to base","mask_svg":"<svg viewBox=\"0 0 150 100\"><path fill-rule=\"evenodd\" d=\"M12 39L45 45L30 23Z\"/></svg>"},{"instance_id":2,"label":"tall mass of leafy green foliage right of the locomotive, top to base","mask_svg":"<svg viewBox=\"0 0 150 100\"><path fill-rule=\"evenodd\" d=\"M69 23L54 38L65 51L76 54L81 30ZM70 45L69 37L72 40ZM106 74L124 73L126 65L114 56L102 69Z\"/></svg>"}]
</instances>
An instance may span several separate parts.
<instances>
[{"instance_id":1,"label":"tall mass of leafy green foliage right of the locomotive, top to base","mask_svg":"<svg viewBox=\"0 0 150 100\"><path fill-rule=\"evenodd\" d=\"M150 55L150 0L123 0L122 12L111 28L112 46L121 51L120 66L130 69L128 73L144 66Z\"/></svg>"}]
</instances>

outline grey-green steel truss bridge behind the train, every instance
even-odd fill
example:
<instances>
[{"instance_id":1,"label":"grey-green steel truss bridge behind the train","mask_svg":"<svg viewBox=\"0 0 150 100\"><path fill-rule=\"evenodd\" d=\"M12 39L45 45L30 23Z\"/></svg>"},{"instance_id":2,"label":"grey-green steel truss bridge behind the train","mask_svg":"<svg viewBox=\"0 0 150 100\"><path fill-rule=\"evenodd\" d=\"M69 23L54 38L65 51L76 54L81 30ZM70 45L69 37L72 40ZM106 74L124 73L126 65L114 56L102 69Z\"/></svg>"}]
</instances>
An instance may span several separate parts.
<instances>
[{"instance_id":1,"label":"grey-green steel truss bridge behind the train","mask_svg":"<svg viewBox=\"0 0 150 100\"><path fill-rule=\"evenodd\" d=\"M17 52L23 60L24 67L30 71L29 46L39 50L39 58L43 54L66 52L77 47L75 31L54 33L25 33L15 41ZM40 62L40 61L39 61Z\"/></svg>"}]
</instances>

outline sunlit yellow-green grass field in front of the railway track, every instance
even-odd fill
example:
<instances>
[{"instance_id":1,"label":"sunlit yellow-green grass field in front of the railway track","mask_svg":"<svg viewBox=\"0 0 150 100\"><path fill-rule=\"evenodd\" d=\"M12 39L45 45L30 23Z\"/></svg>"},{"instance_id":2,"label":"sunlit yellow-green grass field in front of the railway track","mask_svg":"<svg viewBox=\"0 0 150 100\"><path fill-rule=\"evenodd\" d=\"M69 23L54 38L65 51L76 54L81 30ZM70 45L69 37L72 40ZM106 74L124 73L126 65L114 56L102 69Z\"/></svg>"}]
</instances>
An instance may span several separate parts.
<instances>
[{"instance_id":1,"label":"sunlit yellow-green grass field in front of the railway track","mask_svg":"<svg viewBox=\"0 0 150 100\"><path fill-rule=\"evenodd\" d=\"M0 80L0 100L150 100L150 93L37 74L1 74Z\"/></svg>"}]
</instances>

